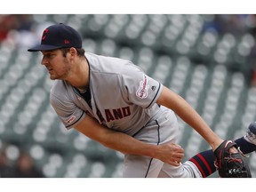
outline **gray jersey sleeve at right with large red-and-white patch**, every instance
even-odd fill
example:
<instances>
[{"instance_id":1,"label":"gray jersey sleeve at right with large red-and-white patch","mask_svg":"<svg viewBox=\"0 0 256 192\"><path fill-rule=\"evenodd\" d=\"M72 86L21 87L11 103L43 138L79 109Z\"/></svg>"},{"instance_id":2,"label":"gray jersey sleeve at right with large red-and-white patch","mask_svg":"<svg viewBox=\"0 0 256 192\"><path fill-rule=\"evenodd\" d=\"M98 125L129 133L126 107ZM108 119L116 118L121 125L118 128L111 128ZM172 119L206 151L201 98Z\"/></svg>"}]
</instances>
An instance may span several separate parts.
<instances>
[{"instance_id":1,"label":"gray jersey sleeve at right with large red-and-white patch","mask_svg":"<svg viewBox=\"0 0 256 192\"><path fill-rule=\"evenodd\" d=\"M127 100L142 108L151 108L160 96L163 84L146 75L133 64L125 67L123 74L123 87Z\"/></svg>"}]
</instances>

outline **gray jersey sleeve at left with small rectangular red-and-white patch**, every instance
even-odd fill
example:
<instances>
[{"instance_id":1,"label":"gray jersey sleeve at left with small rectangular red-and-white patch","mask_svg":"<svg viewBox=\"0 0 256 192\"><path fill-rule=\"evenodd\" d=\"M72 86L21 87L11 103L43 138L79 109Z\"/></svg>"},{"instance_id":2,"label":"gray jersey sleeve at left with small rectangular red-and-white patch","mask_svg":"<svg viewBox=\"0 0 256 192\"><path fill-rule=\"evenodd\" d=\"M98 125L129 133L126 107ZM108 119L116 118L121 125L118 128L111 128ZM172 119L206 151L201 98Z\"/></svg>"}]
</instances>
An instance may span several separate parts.
<instances>
[{"instance_id":1,"label":"gray jersey sleeve at left with small rectangular red-and-white patch","mask_svg":"<svg viewBox=\"0 0 256 192\"><path fill-rule=\"evenodd\" d=\"M66 126L67 129L74 127L76 124L84 119L85 112L77 108L77 106L70 100L55 96L51 93L50 102L60 121Z\"/></svg>"}]
</instances>

